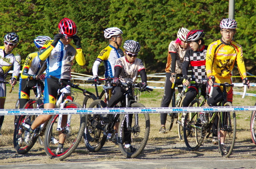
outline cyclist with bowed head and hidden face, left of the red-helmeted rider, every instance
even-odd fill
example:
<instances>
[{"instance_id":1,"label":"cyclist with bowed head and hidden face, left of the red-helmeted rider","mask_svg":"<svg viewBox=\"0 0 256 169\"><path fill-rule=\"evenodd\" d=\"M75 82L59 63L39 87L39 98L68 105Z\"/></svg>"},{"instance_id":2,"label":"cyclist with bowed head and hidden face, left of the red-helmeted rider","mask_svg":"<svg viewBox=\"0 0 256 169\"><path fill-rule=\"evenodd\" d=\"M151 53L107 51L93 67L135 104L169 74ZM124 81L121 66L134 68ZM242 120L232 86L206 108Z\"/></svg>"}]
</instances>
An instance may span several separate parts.
<instances>
[{"instance_id":1,"label":"cyclist with bowed head and hidden face, left of the red-helmeted rider","mask_svg":"<svg viewBox=\"0 0 256 169\"><path fill-rule=\"evenodd\" d=\"M20 85L19 85L19 100L20 100L20 109L29 101L30 90L34 87L37 83L38 79L44 79L44 70L46 70L47 65L45 61L39 59L38 54L43 47L44 43L47 40L52 40L50 37L47 36L39 36L34 39L35 46L38 48L38 52L34 52L29 54L26 57L24 62ZM26 79L29 77L29 84L26 84ZM27 87L26 87L27 86ZM25 88L25 89L24 89ZM44 84L41 83L41 89L44 90Z\"/></svg>"}]
</instances>

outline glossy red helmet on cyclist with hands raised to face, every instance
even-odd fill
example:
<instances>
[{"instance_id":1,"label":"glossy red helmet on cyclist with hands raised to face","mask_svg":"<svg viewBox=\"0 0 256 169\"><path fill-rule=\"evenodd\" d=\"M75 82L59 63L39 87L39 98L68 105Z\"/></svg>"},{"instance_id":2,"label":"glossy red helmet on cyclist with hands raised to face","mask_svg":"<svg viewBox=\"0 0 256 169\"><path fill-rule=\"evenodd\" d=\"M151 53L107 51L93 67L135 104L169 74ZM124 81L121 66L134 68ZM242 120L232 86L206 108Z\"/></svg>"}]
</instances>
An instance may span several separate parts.
<instances>
[{"instance_id":1,"label":"glossy red helmet on cyclist with hands raised to face","mask_svg":"<svg viewBox=\"0 0 256 169\"><path fill-rule=\"evenodd\" d=\"M65 35L65 38L73 37L77 32L76 24L73 20L66 17L60 21L58 28L60 29L61 34Z\"/></svg>"}]
</instances>

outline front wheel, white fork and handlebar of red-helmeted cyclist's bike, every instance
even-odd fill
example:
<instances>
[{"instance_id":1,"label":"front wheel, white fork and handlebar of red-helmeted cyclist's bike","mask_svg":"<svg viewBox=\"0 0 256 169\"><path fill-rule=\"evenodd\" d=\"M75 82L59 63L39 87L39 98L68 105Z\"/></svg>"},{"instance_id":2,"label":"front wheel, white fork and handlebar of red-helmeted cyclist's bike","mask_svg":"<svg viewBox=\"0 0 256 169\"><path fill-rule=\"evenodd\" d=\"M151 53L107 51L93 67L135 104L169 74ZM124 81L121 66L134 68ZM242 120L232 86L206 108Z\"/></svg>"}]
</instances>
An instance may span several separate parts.
<instances>
[{"instance_id":1,"label":"front wheel, white fork and handlebar of red-helmeted cyclist's bike","mask_svg":"<svg viewBox=\"0 0 256 169\"><path fill-rule=\"evenodd\" d=\"M81 90L84 96L86 96L86 93L89 95L93 95L93 93L85 89L81 89L80 87L78 87L78 85L75 85L71 82L66 82L54 76L50 77L57 80L60 85L67 85L58 91L60 95L56 102L56 108L81 108L81 105L79 103L73 102L73 97L71 96L70 91L71 87ZM84 132L84 128L85 115L52 115L52 118L49 120L45 131L44 149L47 155L51 159L54 158L57 160L63 160L69 157L79 145ZM64 137L65 141L63 146L63 152L61 152L61 154L55 154L58 144L52 143L52 137Z\"/></svg>"}]
</instances>

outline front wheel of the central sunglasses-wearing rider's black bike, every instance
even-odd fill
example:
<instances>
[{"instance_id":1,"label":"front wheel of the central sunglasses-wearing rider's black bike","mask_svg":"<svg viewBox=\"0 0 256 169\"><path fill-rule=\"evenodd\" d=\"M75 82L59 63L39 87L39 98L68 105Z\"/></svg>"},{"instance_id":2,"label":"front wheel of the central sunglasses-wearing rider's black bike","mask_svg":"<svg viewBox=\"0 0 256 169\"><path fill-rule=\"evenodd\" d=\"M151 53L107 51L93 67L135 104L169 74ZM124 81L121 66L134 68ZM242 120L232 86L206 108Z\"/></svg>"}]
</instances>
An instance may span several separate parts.
<instances>
[{"instance_id":1,"label":"front wheel of the central sunglasses-wearing rider's black bike","mask_svg":"<svg viewBox=\"0 0 256 169\"><path fill-rule=\"evenodd\" d=\"M140 103L133 103L131 107L145 107ZM148 113L131 114L133 119L131 121L131 130L128 131L126 127L126 115L120 116L120 123L118 127L118 144L119 149L126 158L136 158L145 148L148 142L150 131L150 118ZM139 125L135 125L134 117L138 115ZM132 132L131 132L132 131ZM125 134L126 133L126 134ZM131 138L131 146L136 149L135 152L127 152L124 147L125 140Z\"/></svg>"}]
</instances>

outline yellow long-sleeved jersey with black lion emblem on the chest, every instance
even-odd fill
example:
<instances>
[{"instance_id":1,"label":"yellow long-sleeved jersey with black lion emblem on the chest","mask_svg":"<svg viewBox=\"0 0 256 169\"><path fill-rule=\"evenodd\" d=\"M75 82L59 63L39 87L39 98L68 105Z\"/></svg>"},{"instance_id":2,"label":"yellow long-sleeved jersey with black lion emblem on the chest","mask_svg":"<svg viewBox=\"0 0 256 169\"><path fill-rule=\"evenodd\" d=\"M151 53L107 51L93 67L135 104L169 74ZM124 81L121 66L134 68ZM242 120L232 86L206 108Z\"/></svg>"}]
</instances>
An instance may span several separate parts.
<instances>
[{"instance_id":1,"label":"yellow long-sleeved jersey with black lion emblem on the chest","mask_svg":"<svg viewBox=\"0 0 256 169\"><path fill-rule=\"evenodd\" d=\"M212 42L206 54L206 73L207 77L231 78L231 71L237 62L239 73L242 79L246 78L243 50L241 45L231 42L229 45L219 39Z\"/></svg>"}]
</instances>

